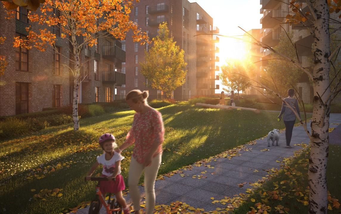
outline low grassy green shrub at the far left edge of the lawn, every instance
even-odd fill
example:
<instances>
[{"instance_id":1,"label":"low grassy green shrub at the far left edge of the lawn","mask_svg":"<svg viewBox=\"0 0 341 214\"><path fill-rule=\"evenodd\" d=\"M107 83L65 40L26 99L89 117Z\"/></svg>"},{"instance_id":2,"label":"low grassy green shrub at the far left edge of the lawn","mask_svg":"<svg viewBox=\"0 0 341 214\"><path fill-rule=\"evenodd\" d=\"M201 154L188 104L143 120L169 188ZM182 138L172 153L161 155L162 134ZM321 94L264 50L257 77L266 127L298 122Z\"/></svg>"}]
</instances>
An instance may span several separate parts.
<instances>
[{"instance_id":1,"label":"low grassy green shrub at the far left edge of the lawn","mask_svg":"<svg viewBox=\"0 0 341 214\"><path fill-rule=\"evenodd\" d=\"M30 132L29 124L18 118L8 118L0 122L0 137L13 138Z\"/></svg>"}]
</instances>

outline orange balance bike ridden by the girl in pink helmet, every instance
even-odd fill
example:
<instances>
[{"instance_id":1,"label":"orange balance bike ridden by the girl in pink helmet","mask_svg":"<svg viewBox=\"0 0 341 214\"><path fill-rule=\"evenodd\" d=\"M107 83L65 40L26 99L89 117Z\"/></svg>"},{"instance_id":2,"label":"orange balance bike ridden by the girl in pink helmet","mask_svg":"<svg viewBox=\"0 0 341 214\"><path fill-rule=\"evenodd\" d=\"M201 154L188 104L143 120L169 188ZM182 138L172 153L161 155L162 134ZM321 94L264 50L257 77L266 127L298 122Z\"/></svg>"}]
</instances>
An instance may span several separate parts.
<instances>
[{"instance_id":1,"label":"orange balance bike ridden by the girl in pink helmet","mask_svg":"<svg viewBox=\"0 0 341 214\"><path fill-rule=\"evenodd\" d=\"M102 205L107 212L107 214L121 214L122 213L122 205L116 201L116 198L110 199L111 193L109 193L109 199L106 202L105 196L102 195L100 190L100 181L107 181L106 177L91 177L91 181L98 181L96 186L96 198L91 201L89 214L98 214L101 210ZM113 178L115 180L115 178Z\"/></svg>"}]
</instances>

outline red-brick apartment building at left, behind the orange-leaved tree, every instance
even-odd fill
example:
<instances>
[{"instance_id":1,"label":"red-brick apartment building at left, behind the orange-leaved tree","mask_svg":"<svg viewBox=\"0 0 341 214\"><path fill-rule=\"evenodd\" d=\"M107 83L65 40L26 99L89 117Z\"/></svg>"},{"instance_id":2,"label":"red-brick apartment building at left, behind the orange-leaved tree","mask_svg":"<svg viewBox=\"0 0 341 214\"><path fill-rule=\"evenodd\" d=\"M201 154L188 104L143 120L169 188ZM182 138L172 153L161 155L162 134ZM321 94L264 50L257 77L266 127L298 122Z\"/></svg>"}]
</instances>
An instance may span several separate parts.
<instances>
[{"instance_id":1,"label":"red-brick apartment building at left, behind the orange-leaved tree","mask_svg":"<svg viewBox=\"0 0 341 214\"><path fill-rule=\"evenodd\" d=\"M4 75L0 76L0 116L41 111L47 107L62 107L72 104L73 76L69 67L70 45L61 39L58 28L55 51L48 47L45 52L35 48L14 48L13 37L25 37L29 26L27 10L18 7L16 19L5 19L0 8L0 35L6 36L1 45L1 55L8 62ZM38 29L34 23L32 27ZM46 26L46 28L49 28ZM81 40L81 37L77 39ZM112 37L101 38L98 45L81 50L81 76L85 80L79 86L79 103L110 102L115 97L115 87L125 83L125 74L118 71L125 61L125 51L120 41Z\"/></svg>"}]
</instances>

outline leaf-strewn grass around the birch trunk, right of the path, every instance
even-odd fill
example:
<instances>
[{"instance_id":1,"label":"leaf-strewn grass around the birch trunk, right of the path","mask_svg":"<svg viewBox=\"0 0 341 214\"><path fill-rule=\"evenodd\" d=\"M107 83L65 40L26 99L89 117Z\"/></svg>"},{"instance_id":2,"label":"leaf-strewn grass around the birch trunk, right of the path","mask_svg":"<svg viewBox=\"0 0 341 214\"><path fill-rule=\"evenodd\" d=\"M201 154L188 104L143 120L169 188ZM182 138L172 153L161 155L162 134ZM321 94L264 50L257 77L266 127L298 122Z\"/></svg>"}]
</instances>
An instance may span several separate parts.
<instances>
[{"instance_id":1,"label":"leaf-strewn grass around the birch trunk, right of the path","mask_svg":"<svg viewBox=\"0 0 341 214\"><path fill-rule=\"evenodd\" d=\"M284 167L284 170L281 170L276 177L255 190L248 200L232 213L245 214L252 211L251 207L255 208L254 211L257 213L259 210L257 206L265 209L268 206L267 213L281 213L279 209L283 212L288 209L287 213L308 213L308 158L308 151L302 153L291 164ZM341 212L341 209L338 208L340 201L334 202L334 199L341 199L341 168L338 167L340 160L341 147L330 144L327 164L327 185L330 193L328 213ZM274 195L277 196L274 197Z\"/></svg>"}]
</instances>

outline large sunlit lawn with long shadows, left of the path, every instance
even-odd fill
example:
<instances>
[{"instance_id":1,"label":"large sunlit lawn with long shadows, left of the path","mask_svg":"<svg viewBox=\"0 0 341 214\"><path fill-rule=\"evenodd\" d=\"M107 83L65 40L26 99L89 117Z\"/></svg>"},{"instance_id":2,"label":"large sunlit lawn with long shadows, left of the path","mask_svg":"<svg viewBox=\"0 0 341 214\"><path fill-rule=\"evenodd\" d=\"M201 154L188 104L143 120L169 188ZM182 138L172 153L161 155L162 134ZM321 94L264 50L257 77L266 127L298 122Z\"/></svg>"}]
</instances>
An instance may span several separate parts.
<instances>
[{"instance_id":1,"label":"large sunlit lawn with long shadows, left of the path","mask_svg":"<svg viewBox=\"0 0 341 214\"><path fill-rule=\"evenodd\" d=\"M266 135L277 122L277 112L206 109L188 104L159 109L165 124L163 161L159 174L219 154ZM134 112L121 110L49 127L32 135L0 141L0 212L61 213L94 196L94 182L84 177L98 155L97 140L113 133L120 145ZM132 147L123 152L122 175L127 181ZM97 172L100 172L100 168ZM40 192L42 191L42 192Z\"/></svg>"}]
</instances>

